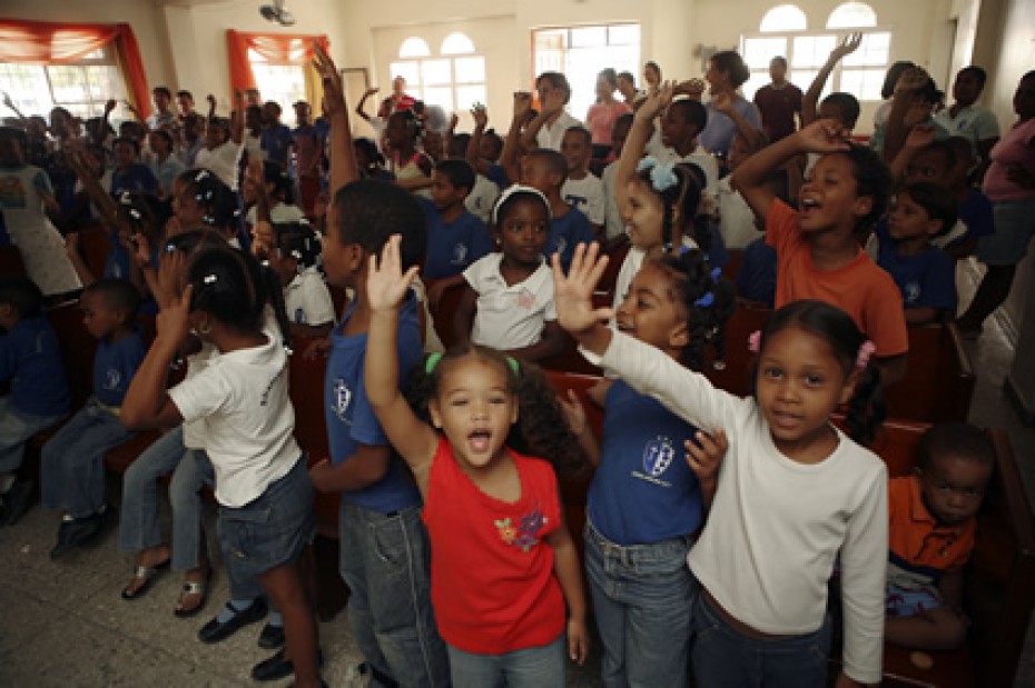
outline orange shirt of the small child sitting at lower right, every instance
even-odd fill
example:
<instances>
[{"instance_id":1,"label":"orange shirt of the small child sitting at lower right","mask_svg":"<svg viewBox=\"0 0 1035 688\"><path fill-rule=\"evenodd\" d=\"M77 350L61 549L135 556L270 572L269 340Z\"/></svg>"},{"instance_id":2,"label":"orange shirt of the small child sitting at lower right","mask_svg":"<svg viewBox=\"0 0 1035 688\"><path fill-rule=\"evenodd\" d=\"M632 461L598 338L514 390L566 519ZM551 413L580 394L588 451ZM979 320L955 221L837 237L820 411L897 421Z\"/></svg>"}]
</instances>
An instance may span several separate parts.
<instances>
[{"instance_id":1,"label":"orange shirt of the small child sitting at lower right","mask_svg":"<svg viewBox=\"0 0 1035 688\"><path fill-rule=\"evenodd\" d=\"M939 524L920 496L917 476L888 480L888 582L904 588L937 585L960 569L974 550L973 518Z\"/></svg>"}]
</instances>

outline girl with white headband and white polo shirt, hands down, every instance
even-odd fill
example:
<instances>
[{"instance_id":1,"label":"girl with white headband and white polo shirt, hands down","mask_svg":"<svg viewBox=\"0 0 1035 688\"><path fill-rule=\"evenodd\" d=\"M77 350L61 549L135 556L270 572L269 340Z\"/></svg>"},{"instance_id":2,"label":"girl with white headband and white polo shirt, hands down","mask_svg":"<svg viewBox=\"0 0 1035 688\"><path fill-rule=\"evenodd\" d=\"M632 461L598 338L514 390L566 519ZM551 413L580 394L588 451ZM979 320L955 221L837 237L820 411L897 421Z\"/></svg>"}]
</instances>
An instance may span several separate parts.
<instances>
[{"instance_id":1,"label":"girl with white headband and white polo shirt, hands down","mask_svg":"<svg viewBox=\"0 0 1035 688\"><path fill-rule=\"evenodd\" d=\"M453 315L455 341L530 361L561 351L564 336L543 257L551 220L549 200L532 187L514 185L500 196L492 217L500 251L464 270L464 291Z\"/></svg>"}]
</instances>

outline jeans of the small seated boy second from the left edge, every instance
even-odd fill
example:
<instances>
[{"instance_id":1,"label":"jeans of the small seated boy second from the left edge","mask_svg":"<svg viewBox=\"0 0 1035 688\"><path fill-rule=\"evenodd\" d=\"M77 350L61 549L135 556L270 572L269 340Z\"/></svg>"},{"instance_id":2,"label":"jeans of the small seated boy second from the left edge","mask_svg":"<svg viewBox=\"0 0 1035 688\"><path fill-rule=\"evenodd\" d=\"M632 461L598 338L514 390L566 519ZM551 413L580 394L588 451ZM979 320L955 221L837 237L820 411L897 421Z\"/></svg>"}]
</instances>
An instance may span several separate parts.
<instances>
[{"instance_id":1,"label":"jeans of the small seated boy second from the left edge","mask_svg":"<svg viewBox=\"0 0 1035 688\"><path fill-rule=\"evenodd\" d=\"M135 432L93 399L43 445L40 467L42 502L72 518L97 513L105 503L105 452Z\"/></svg>"}]
</instances>

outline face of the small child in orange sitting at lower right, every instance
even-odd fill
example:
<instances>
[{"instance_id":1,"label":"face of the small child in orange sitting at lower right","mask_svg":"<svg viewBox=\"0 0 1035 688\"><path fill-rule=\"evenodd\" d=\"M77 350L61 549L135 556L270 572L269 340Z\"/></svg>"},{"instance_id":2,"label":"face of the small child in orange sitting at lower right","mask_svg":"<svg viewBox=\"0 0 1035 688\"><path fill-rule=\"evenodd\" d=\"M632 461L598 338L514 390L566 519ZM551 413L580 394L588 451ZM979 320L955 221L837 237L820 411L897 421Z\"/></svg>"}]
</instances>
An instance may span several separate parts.
<instances>
[{"instance_id":1,"label":"face of the small child in orange sitting at lower right","mask_svg":"<svg viewBox=\"0 0 1035 688\"><path fill-rule=\"evenodd\" d=\"M992 477L992 467L954 455L934 457L919 471L920 496L938 522L955 526L973 518Z\"/></svg>"}]
</instances>

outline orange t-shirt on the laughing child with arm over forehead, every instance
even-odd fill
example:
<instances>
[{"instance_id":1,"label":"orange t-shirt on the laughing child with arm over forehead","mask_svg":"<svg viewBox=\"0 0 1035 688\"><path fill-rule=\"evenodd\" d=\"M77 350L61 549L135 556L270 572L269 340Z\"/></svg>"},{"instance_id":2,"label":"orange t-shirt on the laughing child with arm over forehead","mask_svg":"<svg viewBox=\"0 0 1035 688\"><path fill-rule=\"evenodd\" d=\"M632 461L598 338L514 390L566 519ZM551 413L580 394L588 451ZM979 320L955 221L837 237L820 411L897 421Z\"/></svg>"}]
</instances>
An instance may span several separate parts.
<instances>
[{"instance_id":1,"label":"orange t-shirt on the laughing child with arm over forehead","mask_svg":"<svg viewBox=\"0 0 1035 688\"><path fill-rule=\"evenodd\" d=\"M901 292L866 251L842 268L820 270L798 229L798 213L781 200L769 206L766 243L777 252L777 308L801 299L825 301L851 316L877 347L877 356L909 350Z\"/></svg>"}]
</instances>

